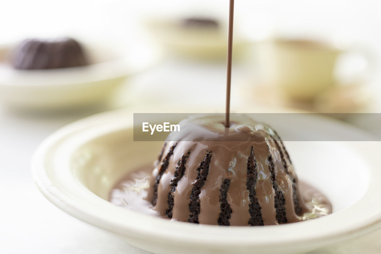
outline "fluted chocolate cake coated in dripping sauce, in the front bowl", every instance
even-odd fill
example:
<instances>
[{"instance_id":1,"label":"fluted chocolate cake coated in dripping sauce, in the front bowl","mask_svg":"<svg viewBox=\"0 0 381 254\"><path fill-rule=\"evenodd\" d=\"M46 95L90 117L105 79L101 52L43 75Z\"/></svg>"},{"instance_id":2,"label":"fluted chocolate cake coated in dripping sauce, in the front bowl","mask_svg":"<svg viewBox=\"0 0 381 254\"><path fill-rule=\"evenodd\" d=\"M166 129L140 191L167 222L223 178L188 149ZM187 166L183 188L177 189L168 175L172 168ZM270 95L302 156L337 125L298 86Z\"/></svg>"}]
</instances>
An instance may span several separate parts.
<instances>
[{"instance_id":1,"label":"fluted chocolate cake coated in dripping sauce, in the front bowl","mask_svg":"<svg viewBox=\"0 0 381 254\"><path fill-rule=\"evenodd\" d=\"M148 200L168 218L213 225L297 222L306 211L277 133L245 117L188 118L167 138Z\"/></svg>"}]
</instances>

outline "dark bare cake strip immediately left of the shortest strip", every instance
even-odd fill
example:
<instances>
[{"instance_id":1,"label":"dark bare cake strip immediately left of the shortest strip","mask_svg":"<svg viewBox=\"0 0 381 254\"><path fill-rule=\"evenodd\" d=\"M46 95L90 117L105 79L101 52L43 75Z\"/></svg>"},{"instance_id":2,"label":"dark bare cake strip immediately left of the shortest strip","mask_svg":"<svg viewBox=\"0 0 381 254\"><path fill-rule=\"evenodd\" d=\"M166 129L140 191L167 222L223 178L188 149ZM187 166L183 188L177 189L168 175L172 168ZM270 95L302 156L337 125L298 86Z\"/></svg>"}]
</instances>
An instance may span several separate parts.
<instances>
[{"instance_id":1,"label":"dark bare cake strip immediately left of the shortest strip","mask_svg":"<svg viewBox=\"0 0 381 254\"><path fill-rule=\"evenodd\" d=\"M200 163L200 166L197 168L197 178L192 186L191 195L189 196L189 219L188 222L199 223L199 214L200 214L200 198L199 195L201 193L201 188L205 184L208 172L209 172L209 164L212 157L212 153L210 151L207 152L205 158Z\"/></svg>"}]
</instances>

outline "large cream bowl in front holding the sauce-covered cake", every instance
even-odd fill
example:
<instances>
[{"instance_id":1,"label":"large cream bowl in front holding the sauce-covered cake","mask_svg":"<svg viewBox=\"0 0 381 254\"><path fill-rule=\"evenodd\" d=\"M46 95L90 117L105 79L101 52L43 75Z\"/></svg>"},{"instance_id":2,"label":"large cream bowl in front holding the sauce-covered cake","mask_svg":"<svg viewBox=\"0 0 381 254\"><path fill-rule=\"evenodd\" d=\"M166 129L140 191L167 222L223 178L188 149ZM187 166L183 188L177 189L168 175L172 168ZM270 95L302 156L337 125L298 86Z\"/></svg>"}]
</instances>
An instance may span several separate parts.
<instances>
[{"instance_id":1,"label":"large cream bowl in front holding the sauce-covered cake","mask_svg":"<svg viewBox=\"0 0 381 254\"><path fill-rule=\"evenodd\" d=\"M134 142L132 121L131 111L112 111L53 133L32 161L43 195L74 217L154 253L305 253L380 227L378 142L285 142L299 179L319 188L333 204L333 214L319 219L220 227L172 222L115 206L105 200L114 183L141 161L155 159L162 145ZM363 135L336 121L316 121Z\"/></svg>"}]
</instances>

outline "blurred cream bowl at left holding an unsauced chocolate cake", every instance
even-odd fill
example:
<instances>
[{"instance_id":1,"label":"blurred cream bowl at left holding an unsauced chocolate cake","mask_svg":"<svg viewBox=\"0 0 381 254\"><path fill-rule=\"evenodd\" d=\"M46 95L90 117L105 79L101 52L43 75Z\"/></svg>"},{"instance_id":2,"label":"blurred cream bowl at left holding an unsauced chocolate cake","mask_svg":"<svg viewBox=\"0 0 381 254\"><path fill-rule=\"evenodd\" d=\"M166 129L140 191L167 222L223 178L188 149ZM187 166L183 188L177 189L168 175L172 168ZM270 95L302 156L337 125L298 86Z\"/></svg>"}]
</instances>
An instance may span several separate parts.
<instances>
[{"instance_id":1,"label":"blurred cream bowl at left holding an unsauced chocolate cake","mask_svg":"<svg viewBox=\"0 0 381 254\"><path fill-rule=\"evenodd\" d=\"M0 45L0 103L22 110L56 110L104 103L126 77L153 63L150 48L126 51L115 45L83 43L89 66L17 70L9 63L14 45Z\"/></svg>"}]
</instances>

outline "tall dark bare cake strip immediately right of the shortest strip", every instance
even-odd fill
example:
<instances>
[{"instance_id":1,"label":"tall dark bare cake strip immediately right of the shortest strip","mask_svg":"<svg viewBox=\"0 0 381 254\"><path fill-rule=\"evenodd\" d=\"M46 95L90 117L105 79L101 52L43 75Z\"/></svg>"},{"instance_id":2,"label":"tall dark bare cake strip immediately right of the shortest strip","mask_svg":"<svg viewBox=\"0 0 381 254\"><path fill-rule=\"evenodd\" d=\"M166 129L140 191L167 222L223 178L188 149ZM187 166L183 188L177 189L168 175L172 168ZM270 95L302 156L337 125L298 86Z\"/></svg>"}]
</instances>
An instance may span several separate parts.
<instances>
[{"instance_id":1,"label":"tall dark bare cake strip immediately right of the shortest strip","mask_svg":"<svg viewBox=\"0 0 381 254\"><path fill-rule=\"evenodd\" d=\"M246 188L249 191L249 225L259 226L263 225L261 206L259 206L258 199L255 197L255 185L258 179L257 161L255 159L254 148L251 146L250 156L247 161L247 181Z\"/></svg>"}]
</instances>

